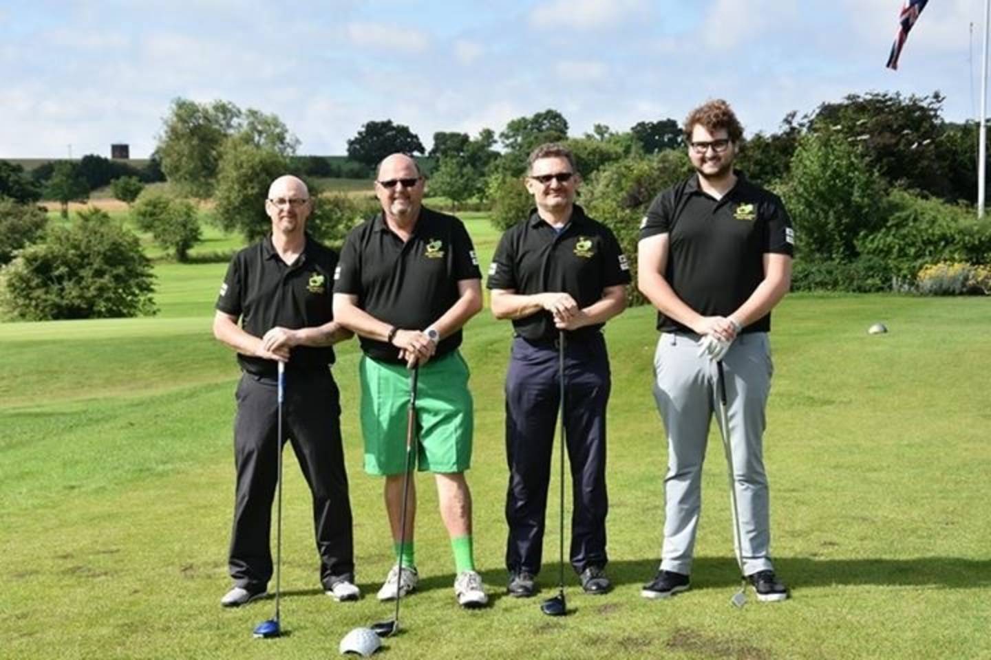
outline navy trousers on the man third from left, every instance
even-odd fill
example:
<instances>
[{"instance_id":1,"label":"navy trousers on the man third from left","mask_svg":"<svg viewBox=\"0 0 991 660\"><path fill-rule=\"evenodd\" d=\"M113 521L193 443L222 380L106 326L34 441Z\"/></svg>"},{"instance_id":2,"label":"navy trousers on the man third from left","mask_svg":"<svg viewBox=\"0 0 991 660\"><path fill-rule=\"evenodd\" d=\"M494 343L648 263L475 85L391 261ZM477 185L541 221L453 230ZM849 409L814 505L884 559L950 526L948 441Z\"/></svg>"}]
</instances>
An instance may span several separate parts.
<instances>
[{"instance_id":1,"label":"navy trousers on the man third from left","mask_svg":"<svg viewBox=\"0 0 991 660\"><path fill-rule=\"evenodd\" d=\"M510 572L540 572L551 454L559 408L556 342L512 342L505 382L505 453L509 466L505 563ZM565 435L574 510L571 564L581 573L605 566L606 403L609 361L601 334L565 343Z\"/></svg>"}]
</instances>

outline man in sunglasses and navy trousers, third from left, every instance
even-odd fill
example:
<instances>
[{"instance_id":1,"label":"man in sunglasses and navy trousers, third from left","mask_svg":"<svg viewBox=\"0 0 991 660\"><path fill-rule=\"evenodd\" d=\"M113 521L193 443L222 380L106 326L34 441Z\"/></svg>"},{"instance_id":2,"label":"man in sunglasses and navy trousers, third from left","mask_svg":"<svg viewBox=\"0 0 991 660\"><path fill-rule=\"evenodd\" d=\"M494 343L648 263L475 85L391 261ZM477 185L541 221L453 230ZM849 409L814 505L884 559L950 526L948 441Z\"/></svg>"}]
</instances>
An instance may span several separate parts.
<instances>
[{"instance_id":1,"label":"man in sunglasses and navy trousers, third from left","mask_svg":"<svg viewBox=\"0 0 991 660\"><path fill-rule=\"evenodd\" d=\"M605 571L610 379L603 327L625 307L630 276L612 232L575 204L580 182L570 150L555 143L534 149L526 189L536 208L502 235L489 270L493 314L510 319L515 335L505 381L507 592L515 597L537 591L562 376L575 508L571 563L586 593L612 586Z\"/></svg>"}]
</instances>

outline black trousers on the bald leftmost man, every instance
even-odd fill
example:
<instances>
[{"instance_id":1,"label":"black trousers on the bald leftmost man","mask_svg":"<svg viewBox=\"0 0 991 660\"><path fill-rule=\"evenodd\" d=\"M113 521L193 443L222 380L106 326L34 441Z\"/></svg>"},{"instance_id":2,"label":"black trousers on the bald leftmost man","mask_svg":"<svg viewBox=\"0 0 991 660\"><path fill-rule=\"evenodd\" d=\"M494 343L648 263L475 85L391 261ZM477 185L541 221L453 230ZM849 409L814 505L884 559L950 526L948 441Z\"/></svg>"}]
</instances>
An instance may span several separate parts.
<instances>
[{"instance_id":1,"label":"black trousers on the bald leftmost man","mask_svg":"<svg viewBox=\"0 0 991 660\"><path fill-rule=\"evenodd\" d=\"M284 385L282 443L288 439L292 444L309 484L313 530L320 555L320 581L324 588L329 588L335 578L353 581L355 570L339 392L329 369L287 372ZM277 384L274 379L243 374L235 396L237 487L228 567L237 586L261 591L273 573L271 528L277 481Z\"/></svg>"}]
</instances>

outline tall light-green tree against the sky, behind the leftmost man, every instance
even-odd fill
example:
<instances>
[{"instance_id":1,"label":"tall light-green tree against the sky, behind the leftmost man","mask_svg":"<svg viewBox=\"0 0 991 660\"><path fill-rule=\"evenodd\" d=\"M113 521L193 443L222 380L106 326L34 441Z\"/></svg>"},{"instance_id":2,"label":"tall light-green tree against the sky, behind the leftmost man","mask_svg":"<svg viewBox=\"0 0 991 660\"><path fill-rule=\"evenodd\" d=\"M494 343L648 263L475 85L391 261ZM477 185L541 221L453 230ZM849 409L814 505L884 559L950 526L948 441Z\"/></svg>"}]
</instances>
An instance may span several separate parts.
<instances>
[{"instance_id":1,"label":"tall light-green tree against the sky, behind the leftmost man","mask_svg":"<svg viewBox=\"0 0 991 660\"><path fill-rule=\"evenodd\" d=\"M282 156L299 141L275 115L242 111L229 101L172 101L156 149L165 177L182 192L206 198L213 193L224 143L239 138Z\"/></svg>"}]
</instances>

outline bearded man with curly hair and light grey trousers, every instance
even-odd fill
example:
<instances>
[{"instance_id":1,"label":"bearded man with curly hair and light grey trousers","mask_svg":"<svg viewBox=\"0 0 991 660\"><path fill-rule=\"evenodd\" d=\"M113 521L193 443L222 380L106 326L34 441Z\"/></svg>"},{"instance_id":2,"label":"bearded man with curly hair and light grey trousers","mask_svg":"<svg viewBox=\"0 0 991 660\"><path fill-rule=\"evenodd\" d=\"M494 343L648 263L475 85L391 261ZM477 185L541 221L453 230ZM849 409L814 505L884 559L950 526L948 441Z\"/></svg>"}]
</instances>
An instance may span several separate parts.
<instances>
[{"instance_id":1,"label":"bearded man with curly hair and light grey trousers","mask_svg":"<svg viewBox=\"0 0 991 660\"><path fill-rule=\"evenodd\" d=\"M696 108L684 128L696 174L654 199L638 246L637 284L662 332L654 397L668 436L662 560L641 594L689 588L722 369L741 568L758 600L783 601L788 590L770 556L762 434L773 370L767 333L791 284L795 236L781 200L733 169L743 130L725 101Z\"/></svg>"}]
</instances>

